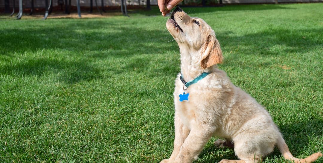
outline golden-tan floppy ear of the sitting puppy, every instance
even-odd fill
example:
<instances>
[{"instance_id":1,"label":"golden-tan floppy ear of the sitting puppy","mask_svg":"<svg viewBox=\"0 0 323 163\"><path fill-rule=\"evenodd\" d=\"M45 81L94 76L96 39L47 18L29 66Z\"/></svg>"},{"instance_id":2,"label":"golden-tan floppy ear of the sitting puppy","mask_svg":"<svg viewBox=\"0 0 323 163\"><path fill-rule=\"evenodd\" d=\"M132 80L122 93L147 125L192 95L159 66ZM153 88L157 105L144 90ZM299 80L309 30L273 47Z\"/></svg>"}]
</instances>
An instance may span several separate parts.
<instances>
[{"instance_id":1,"label":"golden-tan floppy ear of the sitting puppy","mask_svg":"<svg viewBox=\"0 0 323 163\"><path fill-rule=\"evenodd\" d=\"M223 56L219 41L215 38L214 31L211 32L200 49L202 54L201 67L207 68L222 63Z\"/></svg>"}]
</instances>

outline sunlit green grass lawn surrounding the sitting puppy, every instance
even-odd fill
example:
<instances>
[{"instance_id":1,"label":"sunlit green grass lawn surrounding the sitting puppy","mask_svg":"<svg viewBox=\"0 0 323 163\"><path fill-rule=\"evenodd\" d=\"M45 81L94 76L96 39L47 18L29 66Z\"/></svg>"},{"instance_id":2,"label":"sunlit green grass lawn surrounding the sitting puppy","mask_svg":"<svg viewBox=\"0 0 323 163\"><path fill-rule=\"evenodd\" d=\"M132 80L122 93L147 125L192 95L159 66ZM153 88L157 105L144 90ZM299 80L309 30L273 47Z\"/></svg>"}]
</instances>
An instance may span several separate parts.
<instances>
[{"instance_id":1,"label":"sunlit green grass lawn surrounding the sitting puppy","mask_svg":"<svg viewBox=\"0 0 323 163\"><path fill-rule=\"evenodd\" d=\"M323 4L183 10L211 25L219 68L266 107L292 154L323 151ZM168 158L180 55L165 19L156 7L130 18L0 19L0 162ZM237 159L214 139L195 162ZM265 162L288 161L275 148Z\"/></svg>"}]
</instances>

